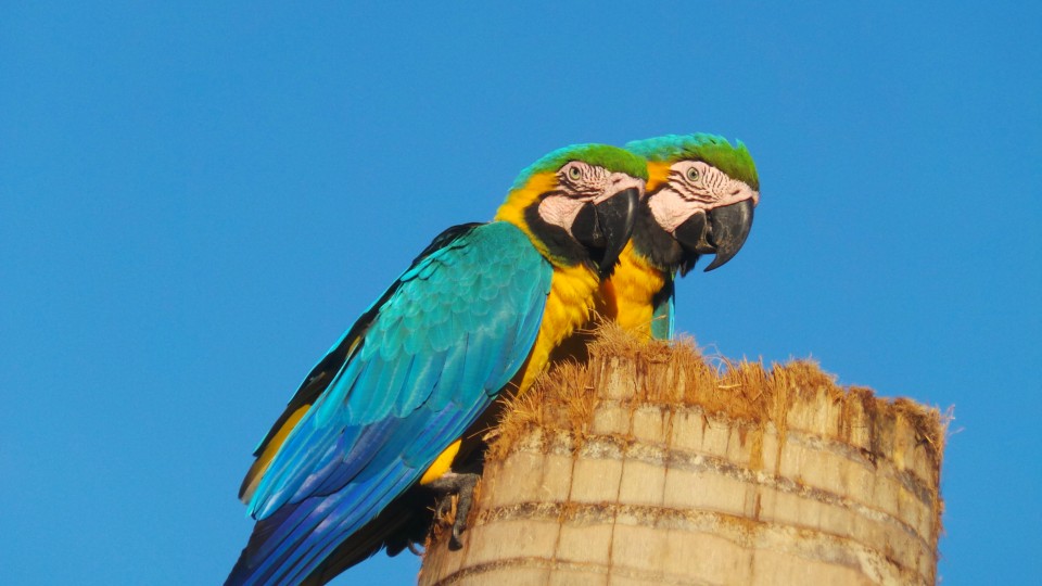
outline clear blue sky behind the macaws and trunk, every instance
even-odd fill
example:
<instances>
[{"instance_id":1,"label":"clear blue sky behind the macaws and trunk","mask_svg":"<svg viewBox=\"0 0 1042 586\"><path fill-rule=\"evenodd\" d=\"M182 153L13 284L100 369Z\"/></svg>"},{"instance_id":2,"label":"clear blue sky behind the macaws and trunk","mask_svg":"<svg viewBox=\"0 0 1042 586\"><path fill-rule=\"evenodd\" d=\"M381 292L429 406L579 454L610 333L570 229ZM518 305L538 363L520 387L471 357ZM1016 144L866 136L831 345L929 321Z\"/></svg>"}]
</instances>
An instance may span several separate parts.
<instances>
[{"instance_id":1,"label":"clear blue sky behind the macaws and trunk","mask_svg":"<svg viewBox=\"0 0 1042 586\"><path fill-rule=\"evenodd\" d=\"M678 330L954 405L943 583L1038 579L1042 4L215 4L4 2L0 582L218 583L255 442L435 233L690 131L762 200Z\"/></svg>"}]
</instances>

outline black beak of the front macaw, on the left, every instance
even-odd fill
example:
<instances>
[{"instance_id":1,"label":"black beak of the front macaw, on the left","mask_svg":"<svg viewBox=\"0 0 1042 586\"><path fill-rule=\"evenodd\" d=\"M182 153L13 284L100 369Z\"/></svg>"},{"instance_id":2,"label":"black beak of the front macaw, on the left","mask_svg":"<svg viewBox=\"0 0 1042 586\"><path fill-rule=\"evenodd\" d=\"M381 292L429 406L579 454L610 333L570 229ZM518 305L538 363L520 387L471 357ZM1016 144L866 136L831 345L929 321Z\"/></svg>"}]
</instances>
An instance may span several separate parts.
<instances>
[{"instance_id":1,"label":"black beak of the front macaw, on the left","mask_svg":"<svg viewBox=\"0 0 1042 586\"><path fill-rule=\"evenodd\" d=\"M589 251L601 279L611 276L630 242L639 199L637 188L624 189L598 204L584 205L575 216L572 234Z\"/></svg>"}]
</instances>

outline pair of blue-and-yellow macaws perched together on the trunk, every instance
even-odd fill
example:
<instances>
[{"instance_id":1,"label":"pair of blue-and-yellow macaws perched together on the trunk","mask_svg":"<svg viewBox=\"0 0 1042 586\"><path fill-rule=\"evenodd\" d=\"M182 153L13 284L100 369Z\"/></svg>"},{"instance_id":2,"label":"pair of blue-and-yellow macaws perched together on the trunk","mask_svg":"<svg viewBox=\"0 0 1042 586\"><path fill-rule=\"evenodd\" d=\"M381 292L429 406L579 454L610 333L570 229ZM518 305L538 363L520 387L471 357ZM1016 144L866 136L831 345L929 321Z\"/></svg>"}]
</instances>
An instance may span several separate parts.
<instances>
[{"instance_id":1,"label":"pair of blue-and-yellow macaws perched together on the trunk","mask_svg":"<svg viewBox=\"0 0 1042 586\"><path fill-rule=\"evenodd\" d=\"M745 145L702 133L524 169L492 222L435 238L304 380L243 481L257 523L226 584L323 584L397 553L436 495L460 495L458 545L476 479L460 471L480 461L468 430L595 313L671 337L674 277L738 252L759 189Z\"/></svg>"}]
</instances>

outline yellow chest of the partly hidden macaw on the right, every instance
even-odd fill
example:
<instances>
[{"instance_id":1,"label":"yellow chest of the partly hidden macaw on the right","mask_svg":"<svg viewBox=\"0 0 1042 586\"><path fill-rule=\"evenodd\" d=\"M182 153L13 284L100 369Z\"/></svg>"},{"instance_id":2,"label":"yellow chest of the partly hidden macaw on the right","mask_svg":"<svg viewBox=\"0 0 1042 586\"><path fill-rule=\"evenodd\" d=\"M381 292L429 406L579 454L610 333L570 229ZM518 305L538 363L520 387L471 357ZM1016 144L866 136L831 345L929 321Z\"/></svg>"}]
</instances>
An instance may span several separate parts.
<instances>
[{"instance_id":1,"label":"yellow chest of the partly hidden macaw on the right","mask_svg":"<svg viewBox=\"0 0 1042 586\"><path fill-rule=\"evenodd\" d=\"M611 279L600 285L597 310L623 329L651 336L655 296L665 286L665 275L626 245Z\"/></svg>"}]
</instances>

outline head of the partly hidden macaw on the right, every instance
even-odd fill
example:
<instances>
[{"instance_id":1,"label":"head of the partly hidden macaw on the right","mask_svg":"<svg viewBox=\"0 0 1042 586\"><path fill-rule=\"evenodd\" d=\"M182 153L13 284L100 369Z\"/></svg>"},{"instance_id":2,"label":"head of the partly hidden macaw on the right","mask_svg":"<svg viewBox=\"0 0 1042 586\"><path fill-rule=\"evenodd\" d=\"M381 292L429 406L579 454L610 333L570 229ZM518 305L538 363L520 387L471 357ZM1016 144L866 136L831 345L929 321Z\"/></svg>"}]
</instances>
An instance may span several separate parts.
<instances>
[{"instance_id":1,"label":"head of the partly hidden macaw on the right","mask_svg":"<svg viewBox=\"0 0 1042 586\"><path fill-rule=\"evenodd\" d=\"M715 135L669 135L626 144L648 160L634 250L660 268L690 270L702 254L707 271L734 258L752 228L760 179L749 150Z\"/></svg>"}]
</instances>

